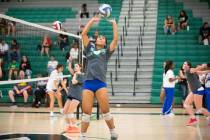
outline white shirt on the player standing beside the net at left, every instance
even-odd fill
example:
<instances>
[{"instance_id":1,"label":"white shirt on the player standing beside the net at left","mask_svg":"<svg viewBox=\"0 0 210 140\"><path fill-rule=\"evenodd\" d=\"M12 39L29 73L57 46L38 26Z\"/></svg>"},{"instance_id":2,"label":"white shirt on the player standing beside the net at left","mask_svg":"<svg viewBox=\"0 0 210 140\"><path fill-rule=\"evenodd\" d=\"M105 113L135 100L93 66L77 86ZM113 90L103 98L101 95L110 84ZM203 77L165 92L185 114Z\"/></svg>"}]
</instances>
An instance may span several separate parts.
<instances>
[{"instance_id":1,"label":"white shirt on the player standing beside the net at left","mask_svg":"<svg viewBox=\"0 0 210 140\"><path fill-rule=\"evenodd\" d=\"M58 83L60 83L60 81L63 80L62 76L63 76L62 72L58 73L57 70L52 71L49 80L47 82L47 91L57 90L54 81L56 80Z\"/></svg>"}]
</instances>

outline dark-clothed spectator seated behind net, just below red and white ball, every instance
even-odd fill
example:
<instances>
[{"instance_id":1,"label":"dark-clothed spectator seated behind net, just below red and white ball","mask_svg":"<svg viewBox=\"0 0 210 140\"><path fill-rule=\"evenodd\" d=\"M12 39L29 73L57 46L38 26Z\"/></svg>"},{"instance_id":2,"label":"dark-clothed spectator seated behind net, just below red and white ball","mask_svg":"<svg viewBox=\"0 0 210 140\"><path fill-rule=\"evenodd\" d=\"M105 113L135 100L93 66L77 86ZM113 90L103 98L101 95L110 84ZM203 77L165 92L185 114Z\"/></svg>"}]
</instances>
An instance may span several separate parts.
<instances>
[{"instance_id":1,"label":"dark-clothed spectator seated behind net, just below red and white ball","mask_svg":"<svg viewBox=\"0 0 210 140\"><path fill-rule=\"evenodd\" d=\"M61 29L61 30L65 32L65 29ZM69 38L68 38L68 36L60 34L58 36L58 45L59 45L61 50L65 51L66 46L69 45Z\"/></svg>"}]
</instances>

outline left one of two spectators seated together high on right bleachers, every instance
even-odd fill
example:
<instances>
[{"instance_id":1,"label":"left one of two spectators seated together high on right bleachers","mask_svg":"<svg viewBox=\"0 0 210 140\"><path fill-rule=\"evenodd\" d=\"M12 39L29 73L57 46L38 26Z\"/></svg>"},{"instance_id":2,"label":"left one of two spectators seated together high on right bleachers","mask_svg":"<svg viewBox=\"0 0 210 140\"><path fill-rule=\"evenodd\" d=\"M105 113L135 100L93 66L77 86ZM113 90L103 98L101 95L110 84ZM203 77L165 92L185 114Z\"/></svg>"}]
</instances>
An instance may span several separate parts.
<instances>
[{"instance_id":1,"label":"left one of two spectators seated together high on right bleachers","mask_svg":"<svg viewBox=\"0 0 210 140\"><path fill-rule=\"evenodd\" d=\"M164 21L164 33L172 35L176 33L175 22L172 16L167 16Z\"/></svg>"}]
</instances>

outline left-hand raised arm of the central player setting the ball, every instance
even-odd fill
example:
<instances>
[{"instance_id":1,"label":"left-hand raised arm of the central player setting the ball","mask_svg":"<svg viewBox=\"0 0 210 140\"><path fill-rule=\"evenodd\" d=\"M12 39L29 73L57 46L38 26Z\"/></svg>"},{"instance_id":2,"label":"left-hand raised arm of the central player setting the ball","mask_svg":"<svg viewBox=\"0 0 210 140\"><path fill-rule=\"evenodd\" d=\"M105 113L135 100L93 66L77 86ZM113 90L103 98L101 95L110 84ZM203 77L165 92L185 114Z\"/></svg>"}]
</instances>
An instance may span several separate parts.
<instances>
[{"instance_id":1,"label":"left-hand raised arm of the central player setting the ball","mask_svg":"<svg viewBox=\"0 0 210 140\"><path fill-rule=\"evenodd\" d=\"M93 18L91 18L91 20L88 21L88 23L85 25L85 28L82 31L82 40L83 40L83 44L84 47L87 47L88 43L89 43L89 38L88 38L88 31L90 30L91 26L94 24L94 22L98 22L100 20L100 18L98 16L95 16Z\"/></svg>"}]
</instances>

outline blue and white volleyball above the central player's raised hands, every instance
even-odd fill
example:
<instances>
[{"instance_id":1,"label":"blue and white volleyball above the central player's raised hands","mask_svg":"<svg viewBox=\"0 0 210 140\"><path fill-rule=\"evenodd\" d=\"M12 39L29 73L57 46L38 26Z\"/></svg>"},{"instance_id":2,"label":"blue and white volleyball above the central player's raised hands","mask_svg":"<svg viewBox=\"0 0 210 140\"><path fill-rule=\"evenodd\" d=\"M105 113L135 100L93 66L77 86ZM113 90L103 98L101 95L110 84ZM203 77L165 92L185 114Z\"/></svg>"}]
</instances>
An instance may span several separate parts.
<instances>
[{"instance_id":1,"label":"blue and white volleyball above the central player's raised hands","mask_svg":"<svg viewBox=\"0 0 210 140\"><path fill-rule=\"evenodd\" d=\"M110 17L111 16L111 13L112 13L112 7L109 5L109 4L102 4L99 9L99 14L102 16L102 17Z\"/></svg>"}]
</instances>

